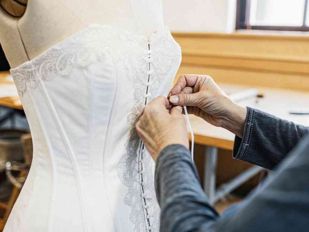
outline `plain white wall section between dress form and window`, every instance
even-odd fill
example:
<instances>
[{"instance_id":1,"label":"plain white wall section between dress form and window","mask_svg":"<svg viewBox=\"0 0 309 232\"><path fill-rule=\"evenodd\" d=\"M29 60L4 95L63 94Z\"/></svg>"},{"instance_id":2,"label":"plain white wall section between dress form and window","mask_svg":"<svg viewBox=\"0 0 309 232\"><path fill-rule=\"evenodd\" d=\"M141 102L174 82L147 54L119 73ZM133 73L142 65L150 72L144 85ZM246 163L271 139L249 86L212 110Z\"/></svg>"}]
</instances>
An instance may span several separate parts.
<instances>
[{"instance_id":1,"label":"plain white wall section between dress form and window","mask_svg":"<svg viewBox=\"0 0 309 232\"><path fill-rule=\"evenodd\" d=\"M163 0L164 23L173 32L235 30L236 0Z\"/></svg>"}]
</instances>

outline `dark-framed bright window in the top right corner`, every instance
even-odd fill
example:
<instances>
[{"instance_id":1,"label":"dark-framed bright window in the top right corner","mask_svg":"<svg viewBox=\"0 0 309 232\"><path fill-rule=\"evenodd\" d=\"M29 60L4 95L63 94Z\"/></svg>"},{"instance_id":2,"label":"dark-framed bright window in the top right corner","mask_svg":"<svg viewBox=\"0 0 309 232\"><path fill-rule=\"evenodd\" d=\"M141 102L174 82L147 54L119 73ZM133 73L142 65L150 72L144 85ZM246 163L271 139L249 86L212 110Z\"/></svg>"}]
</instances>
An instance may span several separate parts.
<instances>
[{"instance_id":1,"label":"dark-framed bright window in the top right corner","mask_svg":"<svg viewBox=\"0 0 309 232\"><path fill-rule=\"evenodd\" d=\"M236 29L309 31L309 0L238 0Z\"/></svg>"}]
</instances>

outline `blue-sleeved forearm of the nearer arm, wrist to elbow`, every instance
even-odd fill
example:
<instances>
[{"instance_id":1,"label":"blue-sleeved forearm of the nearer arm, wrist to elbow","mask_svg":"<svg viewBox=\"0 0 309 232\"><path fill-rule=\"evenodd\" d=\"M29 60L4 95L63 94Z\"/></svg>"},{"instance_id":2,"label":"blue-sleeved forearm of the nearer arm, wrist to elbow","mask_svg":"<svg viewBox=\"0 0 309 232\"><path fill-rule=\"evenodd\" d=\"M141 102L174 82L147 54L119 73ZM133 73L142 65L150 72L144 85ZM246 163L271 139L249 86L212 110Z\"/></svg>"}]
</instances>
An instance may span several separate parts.
<instances>
[{"instance_id":1,"label":"blue-sleeved forearm of the nearer arm, wrist to elbow","mask_svg":"<svg viewBox=\"0 0 309 232\"><path fill-rule=\"evenodd\" d=\"M160 153L155 188L161 207L160 231L198 231L218 218L201 188L190 152L182 145L167 146Z\"/></svg>"}]
</instances>

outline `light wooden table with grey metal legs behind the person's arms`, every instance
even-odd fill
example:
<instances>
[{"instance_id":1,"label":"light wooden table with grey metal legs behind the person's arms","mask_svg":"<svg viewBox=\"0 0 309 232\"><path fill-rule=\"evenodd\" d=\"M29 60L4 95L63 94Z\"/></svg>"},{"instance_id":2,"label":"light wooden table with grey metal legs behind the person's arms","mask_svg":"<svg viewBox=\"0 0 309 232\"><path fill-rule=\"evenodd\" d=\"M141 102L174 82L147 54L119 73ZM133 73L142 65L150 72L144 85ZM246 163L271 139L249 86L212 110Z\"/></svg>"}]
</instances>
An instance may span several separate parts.
<instances>
[{"instance_id":1,"label":"light wooden table with grey metal legs behind the person's arms","mask_svg":"<svg viewBox=\"0 0 309 232\"><path fill-rule=\"evenodd\" d=\"M252 86L217 83L227 94L239 92ZM243 106L256 108L277 117L293 121L309 127L309 115L289 114L289 110L295 108L309 108L309 92L298 92L274 88L256 88L263 98L252 97L238 102ZM205 172L204 190L211 203L224 197L230 191L237 188L240 184L257 174L261 168L253 166L249 170L233 178L229 183L225 183L216 190L215 174L217 166L218 148L233 150L235 135L231 132L210 125L201 118L193 115L189 116L193 128L194 142L206 146L205 150Z\"/></svg>"}]
</instances>

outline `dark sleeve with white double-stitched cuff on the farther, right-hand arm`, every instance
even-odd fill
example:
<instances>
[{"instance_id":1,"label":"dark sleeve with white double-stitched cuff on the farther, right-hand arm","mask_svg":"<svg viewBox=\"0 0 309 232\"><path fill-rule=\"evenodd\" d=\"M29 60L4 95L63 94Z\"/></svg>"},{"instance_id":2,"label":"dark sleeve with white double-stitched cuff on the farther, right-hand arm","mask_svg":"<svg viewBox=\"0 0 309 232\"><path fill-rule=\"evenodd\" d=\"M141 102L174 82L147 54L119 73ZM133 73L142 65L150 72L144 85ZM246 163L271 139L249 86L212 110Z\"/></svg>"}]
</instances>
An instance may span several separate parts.
<instances>
[{"instance_id":1,"label":"dark sleeve with white double-stitched cuff on the farther, right-hand arm","mask_svg":"<svg viewBox=\"0 0 309 232\"><path fill-rule=\"evenodd\" d=\"M272 170L306 134L308 127L247 107L243 139L235 137L233 157Z\"/></svg>"}]
</instances>

